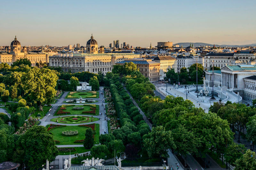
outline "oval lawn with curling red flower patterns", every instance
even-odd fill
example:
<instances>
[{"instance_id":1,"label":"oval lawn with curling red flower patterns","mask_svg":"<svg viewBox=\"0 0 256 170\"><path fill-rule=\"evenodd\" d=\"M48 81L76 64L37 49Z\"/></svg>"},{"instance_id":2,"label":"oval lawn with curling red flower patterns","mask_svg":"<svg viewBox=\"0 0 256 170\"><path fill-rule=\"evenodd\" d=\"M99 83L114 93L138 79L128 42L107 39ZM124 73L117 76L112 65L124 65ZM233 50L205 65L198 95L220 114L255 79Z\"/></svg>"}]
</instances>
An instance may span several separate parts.
<instances>
[{"instance_id":1,"label":"oval lawn with curling red flower patterns","mask_svg":"<svg viewBox=\"0 0 256 170\"><path fill-rule=\"evenodd\" d=\"M76 118L77 120L73 120L73 118ZM77 124L77 123L95 122L95 121L98 121L99 119L97 117L92 117L92 116L86 116L86 117L85 116L68 116L68 117L63 116L63 117L57 117L57 118L51 119L52 122L57 122L57 120L59 121L59 123Z\"/></svg>"}]
</instances>

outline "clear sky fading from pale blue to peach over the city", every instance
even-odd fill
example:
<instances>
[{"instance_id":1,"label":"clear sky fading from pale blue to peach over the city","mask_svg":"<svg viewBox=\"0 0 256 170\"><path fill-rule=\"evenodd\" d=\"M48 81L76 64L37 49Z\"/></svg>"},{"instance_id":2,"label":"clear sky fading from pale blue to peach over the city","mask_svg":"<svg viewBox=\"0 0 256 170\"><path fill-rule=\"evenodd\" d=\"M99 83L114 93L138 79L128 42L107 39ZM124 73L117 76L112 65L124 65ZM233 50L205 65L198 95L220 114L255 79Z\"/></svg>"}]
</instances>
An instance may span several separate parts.
<instances>
[{"instance_id":1,"label":"clear sky fading from pale blue to peach over the city","mask_svg":"<svg viewBox=\"0 0 256 170\"><path fill-rule=\"evenodd\" d=\"M255 0L1 1L0 45L256 43Z\"/></svg>"}]
</instances>

